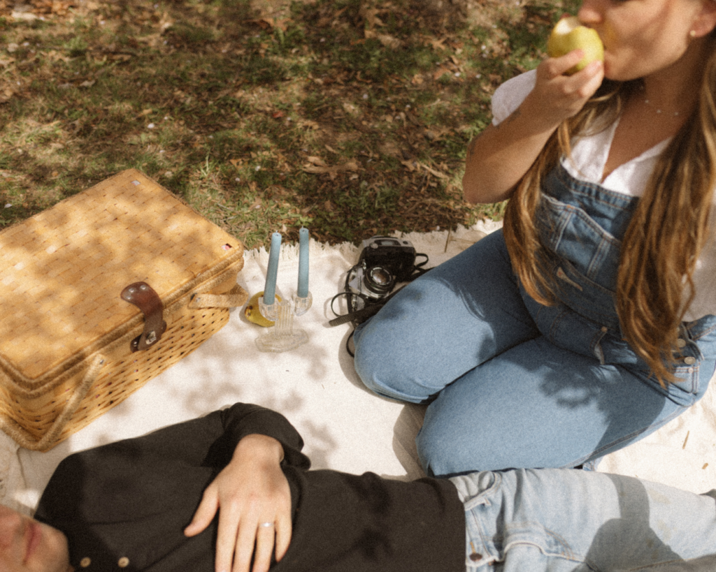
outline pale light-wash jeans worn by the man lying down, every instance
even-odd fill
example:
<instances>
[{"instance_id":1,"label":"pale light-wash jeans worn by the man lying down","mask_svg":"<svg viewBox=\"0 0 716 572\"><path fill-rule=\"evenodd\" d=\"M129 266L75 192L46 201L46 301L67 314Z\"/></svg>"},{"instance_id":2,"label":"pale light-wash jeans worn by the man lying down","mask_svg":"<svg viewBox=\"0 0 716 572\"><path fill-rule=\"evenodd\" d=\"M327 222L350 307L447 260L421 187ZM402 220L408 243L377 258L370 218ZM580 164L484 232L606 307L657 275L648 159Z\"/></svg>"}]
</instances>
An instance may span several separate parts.
<instances>
[{"instance_id":1,"label":"pale light-wash jeans worn by the man lying down","mask_svg":"<svg viewBox=\"0 0 716 572\"><path fill-rule=\"evenodd\" d=\"M468 572L716 570L716 490L569 469L450 480L465 504Z\"/></svg>"}]
</instances>

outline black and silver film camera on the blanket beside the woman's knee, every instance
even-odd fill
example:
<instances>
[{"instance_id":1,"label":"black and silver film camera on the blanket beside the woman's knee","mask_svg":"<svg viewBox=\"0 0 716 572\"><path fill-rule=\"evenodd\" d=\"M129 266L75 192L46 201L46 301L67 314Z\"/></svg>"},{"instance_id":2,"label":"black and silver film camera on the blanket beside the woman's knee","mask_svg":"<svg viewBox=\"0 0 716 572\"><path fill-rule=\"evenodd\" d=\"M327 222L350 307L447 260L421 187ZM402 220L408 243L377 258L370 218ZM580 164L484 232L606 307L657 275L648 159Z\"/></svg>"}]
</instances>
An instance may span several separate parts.
<instances>
[{"instance_id":1,"label":"black and silver film camera on the blanket beside the woman's knee","mask_svg":"<svg viewBox=\"0 0 716 572\"><path fill-rule=\"evenodd\" d=\"M392 292L397 282L410 280L415 257L409 240L382 236L364 240L348 286L357 294L380 300Z\"/></svg>"}]
</instances>

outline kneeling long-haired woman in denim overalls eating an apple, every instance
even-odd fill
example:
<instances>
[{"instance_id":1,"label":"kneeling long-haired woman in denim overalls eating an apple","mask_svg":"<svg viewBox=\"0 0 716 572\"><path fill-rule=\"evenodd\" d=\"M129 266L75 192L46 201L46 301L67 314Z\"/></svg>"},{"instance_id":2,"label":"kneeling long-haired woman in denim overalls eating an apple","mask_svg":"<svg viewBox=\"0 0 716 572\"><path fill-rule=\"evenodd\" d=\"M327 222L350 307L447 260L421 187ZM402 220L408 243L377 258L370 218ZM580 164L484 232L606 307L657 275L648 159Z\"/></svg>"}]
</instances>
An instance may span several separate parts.
<instances>
[{"instance_id":1,"label":"kneeling long-haired woman in denim overalls eating an apple","mask_svg":"<svg viewBox=\"0 0 716 572\"><path fill-rule=\"evenodd\" d=\"M716 2L586 0L604 63L546 59L470 144L495 232L355 332L356 370L430 403L428 474L594 465L704 394L716 365Z\"/></svg>"}]
</instances>

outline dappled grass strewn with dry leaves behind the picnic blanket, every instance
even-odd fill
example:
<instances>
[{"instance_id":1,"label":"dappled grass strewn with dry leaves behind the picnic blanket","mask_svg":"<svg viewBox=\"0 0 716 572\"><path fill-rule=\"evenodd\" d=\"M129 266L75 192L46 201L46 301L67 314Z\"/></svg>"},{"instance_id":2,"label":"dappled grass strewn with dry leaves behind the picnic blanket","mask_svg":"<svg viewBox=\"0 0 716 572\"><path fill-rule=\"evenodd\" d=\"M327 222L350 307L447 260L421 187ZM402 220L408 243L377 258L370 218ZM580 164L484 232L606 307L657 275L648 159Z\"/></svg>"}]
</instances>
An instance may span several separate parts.
<instances>
[{"instance_id":1,"label":"dappled grass strewn with dry leaves behind the picnic blanket","mask_svg":"<svg viewBox=\"0 0 716 572\"><path fill-rule=\"evenodd\" d=\"M499 219L490 96L575 0L0 0L0 227L134 167L248 248Z\"/></svg>"}]
</instances>

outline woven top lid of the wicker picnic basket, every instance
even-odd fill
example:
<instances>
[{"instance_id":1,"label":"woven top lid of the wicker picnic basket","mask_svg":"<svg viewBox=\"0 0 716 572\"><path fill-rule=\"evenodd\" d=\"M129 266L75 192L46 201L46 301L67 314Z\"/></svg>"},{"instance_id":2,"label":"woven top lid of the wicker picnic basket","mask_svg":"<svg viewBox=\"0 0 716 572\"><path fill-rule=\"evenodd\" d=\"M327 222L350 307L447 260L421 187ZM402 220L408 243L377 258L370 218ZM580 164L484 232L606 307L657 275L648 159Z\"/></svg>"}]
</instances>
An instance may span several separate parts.
<instances>
[{"instance_id":1,"label":"woven top lid of the wicker picnic basket","mask_svg":"<svg viewBox=\"0 0 716 572\"><path fill-rule=\"evenodd\" d=\"M241 257L241 243L135 169L0 232L0 360L37 379L125 325L120 298L147 282L166 300Z\"/></svg>"}]
</instances>

